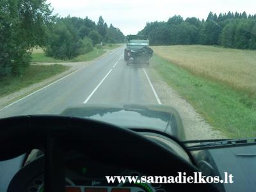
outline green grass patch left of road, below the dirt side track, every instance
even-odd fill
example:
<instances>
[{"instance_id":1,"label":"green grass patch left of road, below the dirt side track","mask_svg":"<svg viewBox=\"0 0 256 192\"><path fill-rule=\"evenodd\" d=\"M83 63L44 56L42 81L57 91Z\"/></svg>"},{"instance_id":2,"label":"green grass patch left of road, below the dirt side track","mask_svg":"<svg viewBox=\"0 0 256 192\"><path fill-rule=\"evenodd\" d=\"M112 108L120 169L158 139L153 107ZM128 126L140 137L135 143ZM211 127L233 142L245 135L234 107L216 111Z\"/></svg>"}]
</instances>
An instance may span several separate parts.
<instances>
[{"instance_id":1,"label":"green grass patch left of road, below the dirt side track","mask_svg":"<svg viewBox=\"0 0 256 192\"><path fill-rule=\"evenodd\" d=\"M68 68L63 65L29 65L21 77L3 77L0 79L0 97L60 74Z\"/></svg>"}]
</instances>

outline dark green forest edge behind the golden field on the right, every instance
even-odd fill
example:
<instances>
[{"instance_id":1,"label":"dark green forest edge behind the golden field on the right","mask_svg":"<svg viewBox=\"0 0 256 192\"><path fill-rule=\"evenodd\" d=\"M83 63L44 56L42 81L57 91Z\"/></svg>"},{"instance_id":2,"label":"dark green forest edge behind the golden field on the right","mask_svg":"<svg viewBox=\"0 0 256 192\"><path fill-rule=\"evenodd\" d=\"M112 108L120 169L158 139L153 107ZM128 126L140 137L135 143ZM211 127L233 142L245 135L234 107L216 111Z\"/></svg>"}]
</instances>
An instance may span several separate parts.
<instances>
[{"instance_id":1,"label":"dark green forest edge behind the golden field on the right","mask_svg":"<svg viewBox=\"0 0 256 192\"><path fill-rule=\"evenodd\" d=\"M183 19L175 15L167 22L148 22L138 35L148 36L151 45L221 45L256 49L256 14L210 12L207 19Z\"/></svg>"}]
</instances>

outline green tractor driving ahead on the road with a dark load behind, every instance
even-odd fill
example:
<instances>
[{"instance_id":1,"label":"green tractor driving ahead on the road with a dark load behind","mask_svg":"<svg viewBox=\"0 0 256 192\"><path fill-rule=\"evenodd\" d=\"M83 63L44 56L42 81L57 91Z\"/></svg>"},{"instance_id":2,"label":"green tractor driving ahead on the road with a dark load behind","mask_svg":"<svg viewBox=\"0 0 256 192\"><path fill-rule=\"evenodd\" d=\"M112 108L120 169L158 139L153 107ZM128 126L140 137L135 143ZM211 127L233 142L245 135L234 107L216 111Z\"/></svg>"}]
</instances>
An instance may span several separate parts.
<instances>
[{"instance_id":1,"label":"green tractor driving ahead on the road with a dark load behind","mask_svg":"<svg viewBox=\"0 0 256 192\"><path fill-rule=\"evenodd\" d=\"M124 49L124 60L127 65L133 63L147 63L153 56L153 50L149 47L149 40L138 35L127 36L126 48Z\"/></svg>"}]
</instances>

